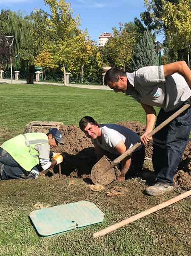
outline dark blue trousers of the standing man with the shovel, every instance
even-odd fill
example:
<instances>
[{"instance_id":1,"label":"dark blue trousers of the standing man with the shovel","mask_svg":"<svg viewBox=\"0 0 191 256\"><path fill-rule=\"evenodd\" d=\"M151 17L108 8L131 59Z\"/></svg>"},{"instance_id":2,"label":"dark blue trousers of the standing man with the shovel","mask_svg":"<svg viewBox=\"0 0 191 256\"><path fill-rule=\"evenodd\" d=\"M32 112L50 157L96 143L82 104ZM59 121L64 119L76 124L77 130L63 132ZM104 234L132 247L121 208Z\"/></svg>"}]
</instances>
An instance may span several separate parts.
<instances>
[{"instance_id":1,"label":"dark blue trousers of the standing man with the shovel","mask_svg":"<svg viewBox=\"0 0 191 256\"><path fill-rule=\"evenodd\" d=\"M160 109L155 127L177 110L165 112ZM173 185L173 177L188 143L190 131L191 108L188 108L154 135L152 161L157 182Z\"/></svg>"}]
</instances>

